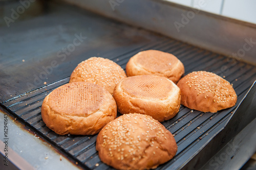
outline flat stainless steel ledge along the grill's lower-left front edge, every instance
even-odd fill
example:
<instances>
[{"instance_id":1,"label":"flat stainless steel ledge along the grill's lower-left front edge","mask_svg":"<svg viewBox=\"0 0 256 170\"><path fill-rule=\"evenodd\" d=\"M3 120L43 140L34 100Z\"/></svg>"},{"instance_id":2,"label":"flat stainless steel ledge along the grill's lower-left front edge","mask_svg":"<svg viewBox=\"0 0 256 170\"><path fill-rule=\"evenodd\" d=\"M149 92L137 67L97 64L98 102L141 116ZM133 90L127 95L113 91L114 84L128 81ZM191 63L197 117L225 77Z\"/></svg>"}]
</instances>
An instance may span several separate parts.
<instances>
[{"instance_id":1,"label":"flat stainless steel ledge along the grill's lower-left front edge","mask_svg":"<svg viewBox=\"0 0 256 170\"><path fill-rule=\"evenodd\" d=\"M4 115L8 114L0 110L0 129L4 130ZM80 169L75 164L71 163L69 159L56 152L56 149L51 147L48 142L42 140L37 135L28 132L23 128L24 125L12 119L8 115L8 151L9 163L12 161L19 169L28 170L25 166L26 160L34 169L49 170L49 169ZM0 142L4 140L4 133L0 133ZM2 149L2 148L1 148ZM13 151L11 152L10 149ZM3 152L3 153L2 153ZM17 158L16 153L22 159ZM5 154L4 150L1 150ZM60 156L62 160L60 161ZM1 159L2 160L2 159ZM10 166L5 166L1 161L0 169L9 169ZM30 170L30 169L29 169Z\"/></svg>"}]
</instances>

